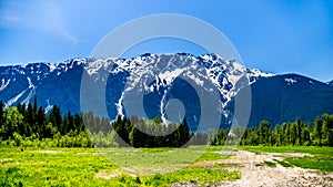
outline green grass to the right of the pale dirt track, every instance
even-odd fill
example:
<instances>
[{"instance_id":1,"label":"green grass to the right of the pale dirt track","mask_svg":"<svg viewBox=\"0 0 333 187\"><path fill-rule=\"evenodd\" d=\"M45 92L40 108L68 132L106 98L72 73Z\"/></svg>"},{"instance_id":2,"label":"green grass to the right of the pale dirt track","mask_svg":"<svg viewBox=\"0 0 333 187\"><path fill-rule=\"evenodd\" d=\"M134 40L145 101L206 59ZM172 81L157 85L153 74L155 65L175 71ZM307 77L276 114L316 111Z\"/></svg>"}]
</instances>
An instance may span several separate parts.
<instances>
[{"instance_id":1,"label":"green grass to the right of the pale dirt track","mask_svg":"<svg viewBox=\"0 0 333 187\"><path fill-rule=\"evenodd\" d=\"M305 147L305 146L240 146L239 148L262 153L309 153L313 156L286 157L278 164L284 167L297 166L307 169L316 169L320 172L333 172L333 148L332 147Z\"/></svg>"}]
</instances>

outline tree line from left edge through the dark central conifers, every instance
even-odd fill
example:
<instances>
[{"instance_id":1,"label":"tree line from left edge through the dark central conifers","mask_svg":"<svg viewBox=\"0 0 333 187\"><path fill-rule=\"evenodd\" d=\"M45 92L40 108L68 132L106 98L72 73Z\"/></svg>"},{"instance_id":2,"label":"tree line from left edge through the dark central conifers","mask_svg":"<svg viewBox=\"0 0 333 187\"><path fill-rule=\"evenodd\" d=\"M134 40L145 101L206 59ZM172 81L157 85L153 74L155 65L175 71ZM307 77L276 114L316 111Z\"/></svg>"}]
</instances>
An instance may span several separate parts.
<instances>
[{"instance_id":1,"label":"tree line from left edge through the dark central conifers","mask_svg":"<svg viewBox=\"0 0 333 187\"><path fill-rule=\"evenodd\" d=\"M147 121L132 116L114 122L92 112L62 115L54 105L48 114L42 106L18 104L4 108L0 101L0 145L46 147L180 147L190 138L183 123L161 123L159 117Z\"/></svg>"}]
</instances>

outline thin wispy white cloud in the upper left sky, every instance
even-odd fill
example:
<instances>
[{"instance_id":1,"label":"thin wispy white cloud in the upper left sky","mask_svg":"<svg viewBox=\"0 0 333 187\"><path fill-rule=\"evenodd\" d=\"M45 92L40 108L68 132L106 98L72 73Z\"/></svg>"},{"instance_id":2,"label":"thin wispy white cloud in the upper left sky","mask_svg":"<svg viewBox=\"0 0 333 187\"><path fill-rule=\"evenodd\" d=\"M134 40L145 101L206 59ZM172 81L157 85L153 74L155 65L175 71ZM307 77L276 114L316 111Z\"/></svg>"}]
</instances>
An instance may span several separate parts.
<instances>
[{"instance_id":1,"label":"thin wispy white cloud in the upper left sky","mask_svg":"<svg viewBox=\"0 0 333 187\"><path fill-rule=\"evenodd\" d=\"M41 30L78 43L67 27L61 8L53 1L9 1L0 11L1 27Z\"/></svg>"}]
</instances>

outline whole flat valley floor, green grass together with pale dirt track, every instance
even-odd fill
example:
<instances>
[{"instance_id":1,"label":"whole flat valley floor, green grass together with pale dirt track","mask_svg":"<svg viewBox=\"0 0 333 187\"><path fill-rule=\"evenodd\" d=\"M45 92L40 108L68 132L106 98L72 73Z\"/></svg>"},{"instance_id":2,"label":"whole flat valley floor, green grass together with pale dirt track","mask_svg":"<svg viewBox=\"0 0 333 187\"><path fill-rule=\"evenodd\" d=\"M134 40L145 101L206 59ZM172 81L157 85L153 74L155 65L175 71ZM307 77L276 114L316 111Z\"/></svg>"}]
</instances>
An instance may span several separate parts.
<instances>
[{"instance_id":1,"label":"whole flat valley floor, green grass together with pale dirt track","mask_svg":"<svg viewBox=\"0 0 333 187\"><path fill-rule=\"evenodd\" d=\"M100 149L0 148L0 186L333 186L332 147L210 147L204 154L202 147L105 150L128 166L121 169ZM201 156L186 163L194 153ZM131 163L131 156L142 159ZM158 173L170 170L149 175L158 167Z\"/></svg>"}]
</instances>

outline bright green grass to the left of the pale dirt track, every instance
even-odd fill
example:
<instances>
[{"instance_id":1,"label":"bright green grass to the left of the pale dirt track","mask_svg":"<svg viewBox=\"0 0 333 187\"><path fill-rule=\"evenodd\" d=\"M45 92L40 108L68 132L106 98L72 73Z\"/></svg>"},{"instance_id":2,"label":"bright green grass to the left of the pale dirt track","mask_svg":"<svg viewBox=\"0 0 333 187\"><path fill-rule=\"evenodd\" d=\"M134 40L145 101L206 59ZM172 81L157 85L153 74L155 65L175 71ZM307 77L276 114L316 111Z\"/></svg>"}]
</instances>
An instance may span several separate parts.
<instances>
[{"instance_id":1,"label":"bright green grass to the left of the pale dirt track","mask_svg":"<svg viewBox=\"0 0 333 187\"><path fill-rule=\"evenodd\" d=\"M210 150L203 153L204 149L0 148L0 186L170 186L240 178L238 172L226 172L224 165L193 166L186 162L223 158ZM151 175L138 175L120 167L152 170L148 173ZM154 170L158 167L161 170Z\"/></svg>"}]
</instances>

